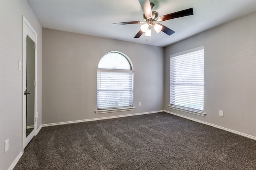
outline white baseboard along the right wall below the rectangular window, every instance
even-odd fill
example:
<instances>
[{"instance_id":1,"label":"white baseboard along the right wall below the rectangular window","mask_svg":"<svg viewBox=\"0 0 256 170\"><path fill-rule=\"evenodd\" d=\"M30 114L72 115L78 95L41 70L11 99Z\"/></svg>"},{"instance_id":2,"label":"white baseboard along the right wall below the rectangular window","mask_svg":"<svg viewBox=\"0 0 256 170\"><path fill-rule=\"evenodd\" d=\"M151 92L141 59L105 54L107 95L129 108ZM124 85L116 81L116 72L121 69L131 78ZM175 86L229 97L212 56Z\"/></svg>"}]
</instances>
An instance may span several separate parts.
<instances>
[{"instance_id":1,"label":"white baseboard along the right wall below the rectangular window","mask_svg":"<svg viewBox=\"0 0 256 170\"><path fill-rule=\"evenodd\" d=\"M250 139L254 139L256 140L256 137L252 136L252 135L248 135L248 134L245 134L245 133L241 133L241 132L238 132L238 131L234 131L232 129L228 129L228 128L225 128L225 127L221 127L221 126L218 126L218 125L214 125L212 123L207 123L207 122L204 122L204 121L200 121L200 120L197 120L197 119L193 119L193 118L190 118L190 117L187 117L187 116L183 116L183 115L179 115L179 114L176 114L176 113L173 113L173 112L170 112L170 111L166 111L164 110L164 112L166 113L170 113L172 115L176 115L176 116L179 116L179 117L183 117L185 119L189 119L189 120L192 120L192 121L196 121L198 123L202 123L202 124L205 124L205 125L209 125L209 126L212 126L212 127L216 127L218 129L222 129L224 131L228 131L228 132L231 132L231 133L235 133L237 135L241 135L241 136L244 136L244 137L248 137Z\"/></svg>"}]
</instances>

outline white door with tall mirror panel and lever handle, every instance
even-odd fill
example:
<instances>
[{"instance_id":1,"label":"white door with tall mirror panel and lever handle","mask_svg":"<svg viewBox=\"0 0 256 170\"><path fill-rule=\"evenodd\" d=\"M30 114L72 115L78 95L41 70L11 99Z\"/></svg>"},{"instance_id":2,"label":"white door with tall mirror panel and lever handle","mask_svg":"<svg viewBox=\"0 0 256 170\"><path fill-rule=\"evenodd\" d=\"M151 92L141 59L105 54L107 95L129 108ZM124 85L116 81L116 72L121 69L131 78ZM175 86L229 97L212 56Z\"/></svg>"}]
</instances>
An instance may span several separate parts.
<instances>
[{"instance_id":1,"label":"white door with tall mirror panel and lever handle","mask_svg":"<svg viewBox=\"0 0 256 170\"><path fill-rule=\"evenodd\" d=\"M36 33L23 17L23 149L35 135L36 125Z\"/></svg>"}]
</instances>

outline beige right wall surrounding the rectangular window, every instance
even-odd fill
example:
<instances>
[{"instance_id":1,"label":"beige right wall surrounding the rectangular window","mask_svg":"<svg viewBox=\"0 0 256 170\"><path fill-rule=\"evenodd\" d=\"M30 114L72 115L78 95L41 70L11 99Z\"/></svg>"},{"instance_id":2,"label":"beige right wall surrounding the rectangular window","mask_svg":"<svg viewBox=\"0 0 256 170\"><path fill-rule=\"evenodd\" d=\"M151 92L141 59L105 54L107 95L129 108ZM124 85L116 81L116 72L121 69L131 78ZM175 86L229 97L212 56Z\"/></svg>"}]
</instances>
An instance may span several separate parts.
<instances>
[{"instance_id":1,"label":"beige right wall surrounding the rectangular window","mask_svg":"<svg viewBox=\"0 0 256 170\"><path fill-rule=\"evenodd\" d=\"M256 12L165 48L164 109L256 138ZM170 109L170 55L204 46L205 117ZM224 110L224 117L218 115Z\"/></svg>"}]
</instances>

